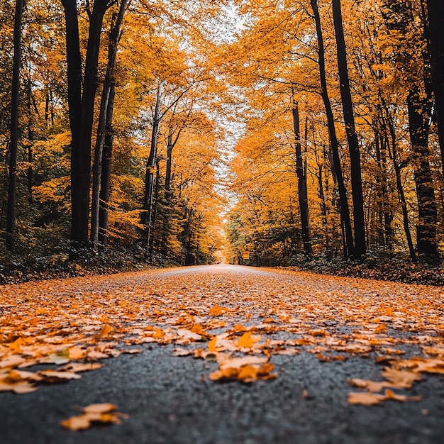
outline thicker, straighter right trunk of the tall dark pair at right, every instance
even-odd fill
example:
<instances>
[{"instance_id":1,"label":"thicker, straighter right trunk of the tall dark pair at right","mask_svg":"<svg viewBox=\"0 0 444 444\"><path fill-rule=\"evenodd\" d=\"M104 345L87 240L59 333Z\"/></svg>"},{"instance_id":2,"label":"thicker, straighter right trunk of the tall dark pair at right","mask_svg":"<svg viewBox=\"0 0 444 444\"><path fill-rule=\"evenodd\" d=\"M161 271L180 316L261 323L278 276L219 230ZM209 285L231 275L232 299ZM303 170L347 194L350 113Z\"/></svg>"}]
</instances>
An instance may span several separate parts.
<instances>
[{"instance_id":1,"label":"thicker, straighter right trunk of the tall dark pair at right","mask_svg":"<svg viewBox=\"0 0 444 444\"><path fill-rule=\"evenodd\" d=\"M333 22L335 26L336 50L338 54L338 71L340 97L343 104L345 133L347 134L348 150L350 152L350 171L353 197L353 225L355 228L354 256L359 259L365 255L365 218L364 199L362 196L362 177L360 148L355 129L355 117L348 77L347 51L343 30L343 18L340 10L340 0L333 0Z\"/></svg>"}]
</instances>

